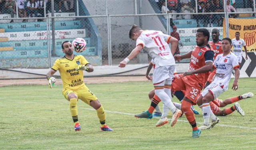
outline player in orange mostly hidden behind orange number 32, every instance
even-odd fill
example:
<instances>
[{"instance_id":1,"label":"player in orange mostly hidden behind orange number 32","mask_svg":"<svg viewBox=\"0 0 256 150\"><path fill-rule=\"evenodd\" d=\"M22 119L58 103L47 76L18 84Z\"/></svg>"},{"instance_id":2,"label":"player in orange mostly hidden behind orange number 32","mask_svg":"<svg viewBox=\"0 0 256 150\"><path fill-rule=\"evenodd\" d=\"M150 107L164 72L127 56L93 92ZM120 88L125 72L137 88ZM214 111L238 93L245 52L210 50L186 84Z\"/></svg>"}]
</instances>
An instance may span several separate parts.
<instances>
[{"instance_id":1,"label":"player in orange mostly hidden behind orange number 32","mask_svg":"<svg viewBox=\"0 0 256 150\"><path fill-rule=\"evenodd\" d=\"M213 52L214 52L213 59L215 59L217 57L217 55L222 53L221 40L219 37L220 37L219 30L213 29L212 30L212 41L209 41L209 45L212 46ZM210 83L212 83L212 81L214 80L215 73L216 73L216 70L210 72L208 79L206 81L205 87L207 87L208 85L210 85Z\"/></svg>"}]
</instances>

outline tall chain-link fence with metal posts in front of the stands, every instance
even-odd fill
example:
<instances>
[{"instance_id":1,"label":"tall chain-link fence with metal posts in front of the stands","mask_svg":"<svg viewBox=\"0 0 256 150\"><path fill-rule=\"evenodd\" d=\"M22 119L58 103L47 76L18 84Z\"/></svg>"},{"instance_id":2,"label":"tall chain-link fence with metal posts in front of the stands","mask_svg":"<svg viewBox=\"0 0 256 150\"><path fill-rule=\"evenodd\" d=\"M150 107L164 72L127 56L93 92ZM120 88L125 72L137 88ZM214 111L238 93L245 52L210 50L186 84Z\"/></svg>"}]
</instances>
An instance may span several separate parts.
<instances>
[{"instance_id":1,"label":"tall chain-link fence with metal posts in front of the stands","mask_svg":"<svg viewBox=\"0 0 256 150\"><path fill-rule=\"evenodd\" d=\"M180 54L194 49L198 28L217 28L220 39L240 31L255 51L254 14L255 0L0 0L0 67L50 67L64 55L62 42L75 38L86 40L78 54L93 65L117 65L135 47L128 37L133 24L178 33ZM130 63L149 61L142 50Z\"/></svg>"}]
</instances>

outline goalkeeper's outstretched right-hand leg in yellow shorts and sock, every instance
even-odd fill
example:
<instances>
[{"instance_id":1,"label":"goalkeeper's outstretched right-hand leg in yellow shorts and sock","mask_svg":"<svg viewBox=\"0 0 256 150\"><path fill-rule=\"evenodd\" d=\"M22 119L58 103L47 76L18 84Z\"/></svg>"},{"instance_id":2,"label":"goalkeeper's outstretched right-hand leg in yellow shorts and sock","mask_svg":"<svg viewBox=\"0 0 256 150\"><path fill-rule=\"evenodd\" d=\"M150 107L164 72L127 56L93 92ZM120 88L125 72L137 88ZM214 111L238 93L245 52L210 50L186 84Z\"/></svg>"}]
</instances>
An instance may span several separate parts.
<instances>
[{"instance_id":1,"label":"goalkeeper's outstretched right-hand leg in yellow shorts and sock","mask_svg":"<svg viewBox=\"0 0 256 150\"><path fill-rule=\"evenodd\" d=\"M102 131L113 131L108 125L106 124L106 112L104 111L103 106L100 104L98 98L87 88L77 90L78 99L81 99L84 103L93 107L96 112L97 116L100 120L100 130Z\"/></svg>"}]
</instances>

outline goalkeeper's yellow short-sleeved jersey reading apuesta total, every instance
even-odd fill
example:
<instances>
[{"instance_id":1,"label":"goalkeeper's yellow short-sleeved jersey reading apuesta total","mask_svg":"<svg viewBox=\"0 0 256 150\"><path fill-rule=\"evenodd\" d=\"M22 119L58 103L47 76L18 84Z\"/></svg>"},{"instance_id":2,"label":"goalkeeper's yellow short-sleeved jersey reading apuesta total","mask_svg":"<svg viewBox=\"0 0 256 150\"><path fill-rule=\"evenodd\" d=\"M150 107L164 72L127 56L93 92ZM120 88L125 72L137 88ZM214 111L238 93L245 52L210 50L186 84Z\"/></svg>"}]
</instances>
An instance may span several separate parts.
<instances>
[{"instance_id":1,"label":"goalkeeper's yellow short-sleeved jersey reading apuesta total","mask_svg":"<svg viewBox=\"0 0 256 150\"><path fill-rule=\"evenodd\" d=\"M55 71L60 71L63 89L81 89L84 85L83 70L76 71L78 65L90 64L82 55L74 55L72 60L65 56L57 59L52 66Z\"/></svg>"}]
</instances>

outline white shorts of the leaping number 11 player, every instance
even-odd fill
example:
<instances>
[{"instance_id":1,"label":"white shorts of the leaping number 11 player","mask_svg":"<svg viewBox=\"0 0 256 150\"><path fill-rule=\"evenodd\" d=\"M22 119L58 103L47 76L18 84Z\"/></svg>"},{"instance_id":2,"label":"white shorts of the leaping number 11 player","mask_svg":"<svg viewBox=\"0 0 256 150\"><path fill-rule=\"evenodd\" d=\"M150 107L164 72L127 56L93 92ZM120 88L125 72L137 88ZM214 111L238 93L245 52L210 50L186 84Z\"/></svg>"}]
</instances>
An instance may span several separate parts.
<instances>
[{"instance_id":1,"label":"white shorts of the leaping number 11 player","mask_svg":"<svg viewBox=\"0 0 256 150\"><path fill-rule=\"evenodd\" d=\"M160 66L155 68L153 72L154 86L163 86L165 83L172 84L174 70L175 65Z\"/></svg>"}]
</instances>

